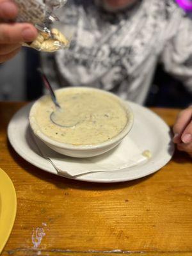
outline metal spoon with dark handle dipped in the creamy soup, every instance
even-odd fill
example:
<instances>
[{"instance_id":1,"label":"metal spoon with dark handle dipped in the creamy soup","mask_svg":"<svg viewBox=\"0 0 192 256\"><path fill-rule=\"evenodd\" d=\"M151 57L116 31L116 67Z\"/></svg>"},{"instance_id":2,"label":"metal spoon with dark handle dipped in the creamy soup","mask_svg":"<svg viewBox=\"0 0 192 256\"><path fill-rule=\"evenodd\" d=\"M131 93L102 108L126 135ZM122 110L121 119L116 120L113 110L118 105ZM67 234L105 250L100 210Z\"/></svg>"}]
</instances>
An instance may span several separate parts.
<instances>
[{"instance_id":1,"label":"metal spoon with dark handle dipped in the creamy soup","mask_svg":"<svg viewBox=\"0 0 192 256\"><path fill-rule=\"evenodd\" d=\"M50 120L53 124L56 124L60 127L70 128L74 127L81 120L78 120L78 116L73 116L72 113L68 113L67 109L61 108L60 104L58 103L58 100L56 98L56 95L54 91L52 90L51 84L49 83L49 80L47 79L47 76L45 76L44 72L40 68L38 68L38 72L42 74L42 79L45 85L45 88L47 88L50 92L52 102L54 103L56 110L53 111L50 115Z\"/></svg>"}]
</instances>

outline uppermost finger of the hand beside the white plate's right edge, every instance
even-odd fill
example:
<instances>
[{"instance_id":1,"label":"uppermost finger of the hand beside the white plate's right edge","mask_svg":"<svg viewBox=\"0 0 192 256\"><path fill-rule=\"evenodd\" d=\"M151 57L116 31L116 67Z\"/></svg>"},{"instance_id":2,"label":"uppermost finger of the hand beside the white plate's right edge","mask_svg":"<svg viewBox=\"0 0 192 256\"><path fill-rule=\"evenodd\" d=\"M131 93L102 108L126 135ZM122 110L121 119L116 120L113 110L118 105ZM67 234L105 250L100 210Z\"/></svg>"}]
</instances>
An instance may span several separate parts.
<instances>
[{"instance_id":1,"label":"uppermost finger of the hand beside the white plate's right edge","mask_svg":"<svg viewBox=\"0 0 192 256\"><path fill-rule=\"evenodd\" d=\"M191 121L192 116L192 108L185 109L184 111L181 111L179 115L177 116L177 120L175 122L175 125L173 126L173 132L175 134L173 138L174 143L180 143L181 142L181 136L184 130L186 129L186 126Z\"/></svg>"}]
</instances>

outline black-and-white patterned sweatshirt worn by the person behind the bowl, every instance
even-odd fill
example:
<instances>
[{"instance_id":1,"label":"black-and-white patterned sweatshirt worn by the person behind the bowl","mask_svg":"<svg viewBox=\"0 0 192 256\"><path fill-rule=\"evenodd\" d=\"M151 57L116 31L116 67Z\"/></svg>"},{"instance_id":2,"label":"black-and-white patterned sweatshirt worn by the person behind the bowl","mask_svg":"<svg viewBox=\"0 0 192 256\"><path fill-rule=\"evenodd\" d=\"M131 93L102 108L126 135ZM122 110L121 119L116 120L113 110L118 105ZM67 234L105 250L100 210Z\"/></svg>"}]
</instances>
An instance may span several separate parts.
<instances>
[{"instance_id":1,"label":"black-and-white patterned sweatshirt worn by the person behind the bowl","mask_svg":"<svg viewBox=\"0 0 192 256\"><path fill-rule=\"evenodd\" d=\"M94 86L145 102L157 61L192 92L192 20L173 0L141 0L108 13L94 1L68 0L58 13L70 48L42 54L54 87Z\"/></svg>"}]
</instances>

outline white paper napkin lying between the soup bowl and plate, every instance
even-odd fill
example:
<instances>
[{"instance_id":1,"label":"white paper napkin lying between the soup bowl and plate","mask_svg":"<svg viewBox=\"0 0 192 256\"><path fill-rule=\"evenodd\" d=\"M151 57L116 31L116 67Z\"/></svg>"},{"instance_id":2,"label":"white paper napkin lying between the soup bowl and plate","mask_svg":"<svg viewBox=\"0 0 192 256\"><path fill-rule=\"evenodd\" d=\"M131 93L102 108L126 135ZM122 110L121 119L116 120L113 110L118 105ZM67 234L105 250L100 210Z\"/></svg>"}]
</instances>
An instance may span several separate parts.
<instances>
[{"instance_id":1,"label":"white paper napkin lying between the soup bowl and plate","mask_svg":"<svg viewBox=\"0 0 192 256\"><path fill-rule=\"evenodd\" d=\"M131 168L147 161L138 145L129 135L116 148L96 157L75 158L63 156L47 147L44 142L33 135L36 146L43 157L51 161L57 172L72 177L92 172L111 172Z\"/></svg>"}]
</instances>

